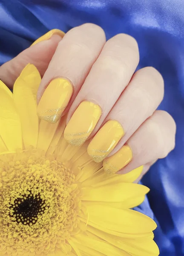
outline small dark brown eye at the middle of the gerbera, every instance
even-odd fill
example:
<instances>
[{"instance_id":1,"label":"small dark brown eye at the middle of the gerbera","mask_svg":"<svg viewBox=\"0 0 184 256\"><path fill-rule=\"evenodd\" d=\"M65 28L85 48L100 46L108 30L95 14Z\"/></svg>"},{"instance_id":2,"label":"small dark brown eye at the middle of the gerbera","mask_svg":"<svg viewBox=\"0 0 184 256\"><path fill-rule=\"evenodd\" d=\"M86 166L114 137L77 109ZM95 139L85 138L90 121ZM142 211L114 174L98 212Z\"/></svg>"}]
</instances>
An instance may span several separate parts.
<instances>
[{"instance_id":1,"label":"small dark brown eye at the middle of the gerbera","mask_svg":"<svg viewBox=\"0 0 184 256\"><path fill-rule=\"evenodd\" d=\"M15 218L17 223L22 222L29 226L37 222L38 215L42 215L45 209L49 209L45 201L40 198L39 193L33 195L30 191L29 195L17 198L9 208L12 210L10 216Z\"/></svg>"}]
</instances>

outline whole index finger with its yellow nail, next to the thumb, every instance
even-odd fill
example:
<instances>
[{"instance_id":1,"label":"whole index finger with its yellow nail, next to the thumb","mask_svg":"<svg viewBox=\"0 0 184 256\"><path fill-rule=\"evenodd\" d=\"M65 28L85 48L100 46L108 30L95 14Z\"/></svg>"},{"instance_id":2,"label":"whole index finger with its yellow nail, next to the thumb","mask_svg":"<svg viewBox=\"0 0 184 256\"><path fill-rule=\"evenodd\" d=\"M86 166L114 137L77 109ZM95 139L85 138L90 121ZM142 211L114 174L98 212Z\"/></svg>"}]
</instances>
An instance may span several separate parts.
<instances>
[{"instance_id":1,"label":"whole index finger with its yellow nail, next to the thumb","mask_svg":"<svg viewBox=\"0 0 184 256\"><path fill-rule=\"evenodd\" d=\"M75 99L106 42L101 27L83 24L71 29L58 44L37 93L37 113L55 123Z\"/></svg>"}]
</instances>

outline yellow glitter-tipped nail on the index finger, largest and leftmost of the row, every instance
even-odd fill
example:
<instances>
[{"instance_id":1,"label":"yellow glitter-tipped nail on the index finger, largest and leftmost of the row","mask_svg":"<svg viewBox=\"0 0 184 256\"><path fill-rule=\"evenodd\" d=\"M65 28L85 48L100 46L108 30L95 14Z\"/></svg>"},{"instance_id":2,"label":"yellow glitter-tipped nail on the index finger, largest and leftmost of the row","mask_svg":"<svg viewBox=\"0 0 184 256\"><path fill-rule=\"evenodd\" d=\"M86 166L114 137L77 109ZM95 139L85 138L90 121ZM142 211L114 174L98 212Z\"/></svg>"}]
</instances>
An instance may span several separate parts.
<instances>
[{"instance_id":1,"label":"yellow glitter-tipped nail on the index finger, largest and leftmost of the row","mask_svg":"<svg viewBox=\"0 0 184 256\"><path fill-rule=\"evenodd\" d=\"M50 123L57 122L73 93L72 84L64 78L56 78L50 82L43 93L37 107L37 115Z\"/></svg>"}]
</instances>

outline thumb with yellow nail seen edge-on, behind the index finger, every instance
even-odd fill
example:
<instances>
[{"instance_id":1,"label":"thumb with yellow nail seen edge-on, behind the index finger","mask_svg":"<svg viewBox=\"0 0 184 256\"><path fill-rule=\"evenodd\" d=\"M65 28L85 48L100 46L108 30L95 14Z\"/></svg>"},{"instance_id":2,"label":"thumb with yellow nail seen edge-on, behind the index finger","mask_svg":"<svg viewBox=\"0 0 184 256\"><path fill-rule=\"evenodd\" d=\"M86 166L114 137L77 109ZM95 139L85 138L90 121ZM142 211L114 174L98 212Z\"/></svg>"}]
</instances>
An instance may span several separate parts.
<instances>
[{"instance_id":1,"label":"thumb with yellow nail seen edge-on, behind the index finger","mask_svg":"<svg viewBox=\"0 0 184 256\"><path fill-rule=\"evenodd\" d=\"M57 31L57 34L53 31ZM48 38L48 35L50 35L50 38ZM56 29L43 35L31 47L20 52L15 58L0 67L0 80L9 88L12 88L23 68L29 63L34 64L40 75L43 76L63 35L63 32L58 33Z\"/></svg>"}]
</instances>

